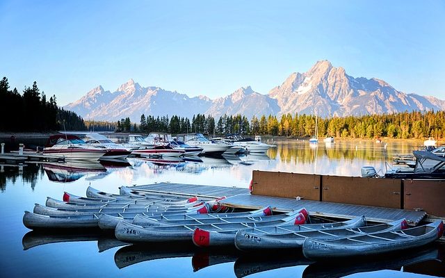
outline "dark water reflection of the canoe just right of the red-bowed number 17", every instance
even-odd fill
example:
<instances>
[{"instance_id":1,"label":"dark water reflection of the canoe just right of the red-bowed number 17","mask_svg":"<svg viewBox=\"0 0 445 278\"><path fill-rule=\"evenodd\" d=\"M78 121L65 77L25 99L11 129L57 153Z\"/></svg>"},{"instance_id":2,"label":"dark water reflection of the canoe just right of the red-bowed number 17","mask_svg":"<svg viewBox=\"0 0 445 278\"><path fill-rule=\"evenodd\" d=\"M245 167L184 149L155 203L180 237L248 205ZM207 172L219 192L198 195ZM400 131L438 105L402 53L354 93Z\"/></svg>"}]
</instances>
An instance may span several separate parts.
<instances>
[{"instance_id":1,"label":"dark water reflection of the canoe just right of the red-bowed number 17","mask_svg":"<svg viewBox=\"0 0 445 278\"><path fill-rule=\"evenodd\" d=\"M241 256L234 264L236 277L246 277L258 272L274 270L277 268L289 268L296 265L309 265L312 261L305 259L299 253L284 252L273 256L252 255Z\"/></svg>"}]
</instances>

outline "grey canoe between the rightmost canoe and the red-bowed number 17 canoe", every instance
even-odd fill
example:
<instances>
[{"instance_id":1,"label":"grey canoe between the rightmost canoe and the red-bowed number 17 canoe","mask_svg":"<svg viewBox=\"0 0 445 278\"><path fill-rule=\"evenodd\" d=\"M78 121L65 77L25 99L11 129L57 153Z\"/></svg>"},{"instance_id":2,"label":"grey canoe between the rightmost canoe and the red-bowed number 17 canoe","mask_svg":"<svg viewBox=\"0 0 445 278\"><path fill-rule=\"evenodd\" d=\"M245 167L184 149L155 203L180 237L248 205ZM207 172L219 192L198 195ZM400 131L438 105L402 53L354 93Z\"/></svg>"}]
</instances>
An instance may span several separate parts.
<instances>
[{"instance_id":1,"label":"grey canoe between the rightmost canoe and the red-bowed number 17 canoe","mask_svg":"<svg viewBox=\"0 0 445 278\"><path fill-rule=\"evenodd\" d=\"M359 222L357 222L359 223ZM235 246L238 250L254 251L265 249L292 249L301 248L306 238L316 240L332 240L335 238L345 238L347 236L357 236L360 234L370 234L380 231L397 231L407 229L408 224L405 219L396 220L387 224L377 224L363 227L363 221L359 226L343 227L342 229L319 229L314 231L296 231L290 234L253 234L245 231L238 231L235 236ZM310 224L307 224L310 226Z\"/></svg>"}]
</instances>

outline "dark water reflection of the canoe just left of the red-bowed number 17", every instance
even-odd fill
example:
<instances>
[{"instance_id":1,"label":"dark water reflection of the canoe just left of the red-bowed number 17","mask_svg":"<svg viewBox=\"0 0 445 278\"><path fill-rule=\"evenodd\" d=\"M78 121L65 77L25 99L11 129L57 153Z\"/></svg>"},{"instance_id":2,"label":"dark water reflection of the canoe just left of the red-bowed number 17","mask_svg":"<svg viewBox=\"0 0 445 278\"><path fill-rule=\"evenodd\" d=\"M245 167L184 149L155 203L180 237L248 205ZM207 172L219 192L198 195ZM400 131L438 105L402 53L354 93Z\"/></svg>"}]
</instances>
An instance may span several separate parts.
<instances>
[{"instance_id":1,"label":"dark water reflection of the canoe just left of the red-bowed number 17","mask_svg":"<svg viewBox=\"0 0 445 278\"><path fill-rule=\"evenodd\" d=\"M120 248L114 254L114 262L118 268L126 268L135 263L157 259L180 258L193 256L191 245L129 245Z\"/></svg>"}]
</instances>

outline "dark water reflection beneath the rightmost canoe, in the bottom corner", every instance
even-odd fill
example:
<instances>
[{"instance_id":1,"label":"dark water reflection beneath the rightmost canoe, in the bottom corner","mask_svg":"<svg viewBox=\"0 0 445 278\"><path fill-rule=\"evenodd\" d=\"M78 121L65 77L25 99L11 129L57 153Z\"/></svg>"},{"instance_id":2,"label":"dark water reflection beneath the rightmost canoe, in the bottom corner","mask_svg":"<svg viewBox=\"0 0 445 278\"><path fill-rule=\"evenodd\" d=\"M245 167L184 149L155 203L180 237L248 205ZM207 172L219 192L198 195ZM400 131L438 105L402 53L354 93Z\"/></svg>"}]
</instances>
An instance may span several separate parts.
<instances>
[{"instance_id":1,"label":"dark water reflection beneath the rightmost canoe, in the bottom corner","mask_svg":"<svg viewBox=\"0 0 445 278\"><path fill-rule=\"evenodd\" d=\"M344 277L359 272L400 270L403 266L423 261L443 261L439 246L417 248L412 252L396 252L384 256L362 259L319 261L305 268L302 277ZM442 275L437 275L442 276Z\"/></svg>"}]
</instances>

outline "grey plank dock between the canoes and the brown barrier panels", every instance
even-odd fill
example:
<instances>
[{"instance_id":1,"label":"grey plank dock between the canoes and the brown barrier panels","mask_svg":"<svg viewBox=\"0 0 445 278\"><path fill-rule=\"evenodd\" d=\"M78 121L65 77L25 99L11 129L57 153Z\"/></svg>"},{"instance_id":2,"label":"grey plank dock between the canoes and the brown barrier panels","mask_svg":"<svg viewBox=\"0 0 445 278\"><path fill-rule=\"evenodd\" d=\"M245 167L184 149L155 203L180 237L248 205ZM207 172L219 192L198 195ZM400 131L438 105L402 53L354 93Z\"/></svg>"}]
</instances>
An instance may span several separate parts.
<instances>
[{"instance_id":1,"label":"grey plank dock between the canoes and the brown barrier panels","mask_svg":"<svg viewBox=\"0 0 445 278\"><path fill-rule=\"evenodd\" d=\"M329 218L352 219L365 215L366 219L372 222L391 222L405 218L410 225L416 225L426 216L425 211L410 211L397 208L379 208L373 206L250 195L247 188L199 186L184 183L154 183L130 188L152 190L163 193L180 193L198 197L218 198L226 196L227 199L220 201L220 203L225 204L225 206L236 208L257 209L264 206L272 206L274 211L288 212L304 207L309 211L309 215Z\"/></svg>"}]
</instances>

